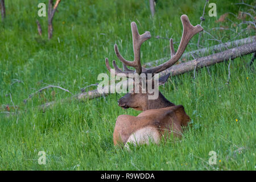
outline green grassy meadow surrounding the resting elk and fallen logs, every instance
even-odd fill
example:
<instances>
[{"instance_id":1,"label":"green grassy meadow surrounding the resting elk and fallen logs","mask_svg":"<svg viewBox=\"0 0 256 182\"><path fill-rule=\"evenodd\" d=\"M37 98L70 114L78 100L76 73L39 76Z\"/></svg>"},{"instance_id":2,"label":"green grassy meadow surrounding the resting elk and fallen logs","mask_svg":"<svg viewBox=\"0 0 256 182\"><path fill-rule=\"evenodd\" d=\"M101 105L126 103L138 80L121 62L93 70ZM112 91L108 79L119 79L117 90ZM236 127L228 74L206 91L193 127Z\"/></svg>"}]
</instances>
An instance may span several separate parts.
<instances>
[{"instance_id":1,"label":"green grassy meadow surrounding the resting elk and fallen logs","mask_svg":"<svg viewBox=\"0 0 256 182\"><path fill-rule=\"evenodd\" d=\"M160 88L168 100L183 105L192 119L179 142L169 139L130 151L114 147L118 115L140 113L117 105L123 94L57 102L45 112L38 106L71 94L48 89L23 102L48 84L73 94L94 84L99 73L107 72L105 57L116 59L114 43L124 57L133 59L131 21L137 22L141 34L150 31L152 35L142 46L143 63L169 55L168 40L155 37L179 42L180 15L187 14L193 25L200 24L205 1L159 0L154 18L147 0L61 1L51 40L47 39L47 17L37 15L40 2L48 1L6 1L6 19L0 22L0 113L7 111L6 105L18 113L0 114L1 170L255 170L255 64L246 67L252 55L232 60L229 84L227 61L209 67L209 72L200 69L195 78L193 72L171 77ZM236 32L210 28L228 26L240 32L246 25L230 26L241 21L233 15L225 22L215 21L226 12L237 15L249 8L234 1L215 3L217 17L209 17L207 7L202 26L227 42ZM36 19L42 24L43 38L38 35ZM236 39L249 35L255 31L245 31ZM197 49L197 38L186 51ZM218 44L207 39L203 35L201 46ZM46 152L46 165L38 164L39 151ZM216 165L208 164L209 151L216 151Z\"/></svg>"}]
</instances>

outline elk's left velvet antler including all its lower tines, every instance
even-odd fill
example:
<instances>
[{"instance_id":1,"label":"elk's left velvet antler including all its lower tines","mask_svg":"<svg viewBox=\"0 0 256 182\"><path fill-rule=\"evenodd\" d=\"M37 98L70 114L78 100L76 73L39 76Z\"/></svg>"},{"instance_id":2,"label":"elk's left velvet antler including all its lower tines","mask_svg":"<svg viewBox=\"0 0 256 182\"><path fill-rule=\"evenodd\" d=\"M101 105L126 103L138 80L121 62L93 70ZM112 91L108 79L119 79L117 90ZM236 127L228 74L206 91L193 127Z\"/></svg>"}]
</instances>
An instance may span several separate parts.
<instances>
[{"instance_id":1,"label":"elk's left velvet antler including all its lower tines","mask_svg":"<svg viewBox=\"0 0 256 182\"><path fill-rule=\"evenodd\" d=\"M134 51L134 61L127 61L123 58L123 56L119 53L117 44L114 45L115 54L118 59L123 63L123 71L117 67L115 64L115 60L113 60L113 67L115 68L115 73L125 73L128 76L129 73L138 73L139 75L142 73L141 67L141 45L143 42L151 38L150 32L146 31L144 34L139 35L137 24L135 22L131 22L131 33L133 35L133 51ZM134 67L135 72L131 69L128 69L127 66ZM109 59L106 58L106 67L110 71Z\"/></svg>"}]
</instances>

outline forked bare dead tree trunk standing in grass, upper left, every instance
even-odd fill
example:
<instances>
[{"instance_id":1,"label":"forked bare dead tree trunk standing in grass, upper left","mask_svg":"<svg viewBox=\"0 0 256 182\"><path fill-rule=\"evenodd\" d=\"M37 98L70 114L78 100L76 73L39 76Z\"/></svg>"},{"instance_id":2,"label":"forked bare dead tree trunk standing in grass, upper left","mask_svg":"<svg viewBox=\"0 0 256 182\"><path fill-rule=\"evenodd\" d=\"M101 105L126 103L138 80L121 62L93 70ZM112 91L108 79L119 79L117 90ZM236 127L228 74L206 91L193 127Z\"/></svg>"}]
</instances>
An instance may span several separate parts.
<instances>
[{"instance_id":1,"label":"forked bare dead tree trunk standing in grass, upper left","mask_svg":"<svg viewBox=\"0 0 256 182\"><path fill-rule=\"evenodd\" d=\"M57 0L53 8L52 8L52 4L53 4L52 0L49 0L49 3L48 3L48 39L52 38L52 32L53 32L52 20L60 1L61 0Z\"/></svg>"}]
</instances>

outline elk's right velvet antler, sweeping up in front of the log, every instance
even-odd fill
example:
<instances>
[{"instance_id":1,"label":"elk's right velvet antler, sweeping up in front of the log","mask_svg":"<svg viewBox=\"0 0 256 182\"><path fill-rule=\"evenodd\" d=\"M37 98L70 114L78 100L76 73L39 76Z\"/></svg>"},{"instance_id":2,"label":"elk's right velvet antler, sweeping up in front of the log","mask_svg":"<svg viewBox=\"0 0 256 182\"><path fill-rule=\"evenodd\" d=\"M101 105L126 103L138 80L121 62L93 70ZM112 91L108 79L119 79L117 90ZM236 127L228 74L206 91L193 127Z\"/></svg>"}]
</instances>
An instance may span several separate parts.
<instances>
[{"instance_id":1,"label":"elk's right velvet antler, sweeping up in front of the log","mask_svg":"<svg viewBox=\"0 0 256 182\"><path fill-rule=\"evenodd\" d=\"M167 68L170 68L180 59L181 55L183 55L183 52L185 51L189 40L191 40L195 34L203 31L203 28L199 24L197 24L197 26L192 26L192 24L189 22L187 15L181 15L180 19L183 24L183 34L177 52L174 54L173 42L172 40L170 40L171 59L168 60L166 63L158 65L157 67L147 69L147 71L145 71L144 73L159 73Z\"/></svg>"}]
</instances>

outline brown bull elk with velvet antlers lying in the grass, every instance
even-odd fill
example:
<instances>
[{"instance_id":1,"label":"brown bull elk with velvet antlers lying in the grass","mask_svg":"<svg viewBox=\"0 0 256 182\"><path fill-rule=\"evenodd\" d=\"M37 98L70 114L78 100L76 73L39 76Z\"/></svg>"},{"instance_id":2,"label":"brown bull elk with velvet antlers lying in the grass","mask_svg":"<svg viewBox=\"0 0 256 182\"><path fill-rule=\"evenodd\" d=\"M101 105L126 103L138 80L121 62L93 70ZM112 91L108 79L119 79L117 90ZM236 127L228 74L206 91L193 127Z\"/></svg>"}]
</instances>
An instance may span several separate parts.
<instances>
[{"instance_id":1,"label":"brown bull elk with velvet antlers lying in the grass","mask_svg":"<svg viewBox=\"0 0 256 182\"><path fill-rule=\"evenodd\" d=\"M118 68L115 60L113 60L115 75L122 73L123 76L130 77L129 75L134 73L138 75L151 73L154 76L156 73L160 73L174 65L180 59L181 55L183 55L189 40L198 32L203 31L200 25L192 26L187 15L181 16L181 22L183 24L183 35L177 52L175 53L173 40L170 39L171 59L166 61L166 63L150 69L141 66L140 56L141 45L151 38L150 32L146 31L144 34L140 35L137 24L131 22L134 61L125 60L119 53L117 44L115 44L115 54L123 64L122 70ZM108 58L105 59L105 63L110 71L111 68ZM127 66L133 67L135 70L129 69ZM164 84L169 76L170 74L160 77L159 85ZM152 79L147 79L147 82L149 81L152 81ZM141 82L139 82L139 84L141 84ZM137 117L132 115L118 116L113 134L114 145L123 143L125 146L128 146L127 143L129 142L133 144L148 144L150 140L158 143L163 135L167 137L170 136L170 134L173 134L174 137L181 136L183 127L187 126L190 121L189 116L185 113L184 107L168 101L160 92L156 100L148 100L148 95L150 95L150 93L142 93L141 89L139 89L139 93L135 93L133 90L133 92L127 93L118 100L118 105L123 109L131 107L135 110L142 110L143 112Z\"/></svg>"}]
</instances>

